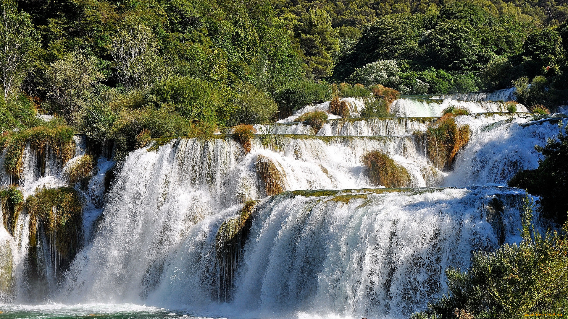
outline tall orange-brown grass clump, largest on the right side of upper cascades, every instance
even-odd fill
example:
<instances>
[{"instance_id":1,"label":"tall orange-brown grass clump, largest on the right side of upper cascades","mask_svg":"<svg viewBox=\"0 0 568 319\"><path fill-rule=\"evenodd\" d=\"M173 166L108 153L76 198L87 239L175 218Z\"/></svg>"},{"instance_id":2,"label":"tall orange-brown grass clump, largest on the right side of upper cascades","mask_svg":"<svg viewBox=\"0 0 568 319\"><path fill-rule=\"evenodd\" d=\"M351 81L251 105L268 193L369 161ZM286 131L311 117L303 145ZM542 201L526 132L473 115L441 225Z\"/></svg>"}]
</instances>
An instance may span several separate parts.
<instances>
[{"instance_id":1,"label":"tall orange-brown grass clump, largest on the right side of upper cascades","mask_svg":"<svg viewBox=\"0 0 568 319\"><path fill-rule=\"evenodd\" d=\"M438 169L450 168L459 150L469 142L469 125L457 127L452 114L440 117L426 130L427 153Z\"/></svg>"}]
</instances>

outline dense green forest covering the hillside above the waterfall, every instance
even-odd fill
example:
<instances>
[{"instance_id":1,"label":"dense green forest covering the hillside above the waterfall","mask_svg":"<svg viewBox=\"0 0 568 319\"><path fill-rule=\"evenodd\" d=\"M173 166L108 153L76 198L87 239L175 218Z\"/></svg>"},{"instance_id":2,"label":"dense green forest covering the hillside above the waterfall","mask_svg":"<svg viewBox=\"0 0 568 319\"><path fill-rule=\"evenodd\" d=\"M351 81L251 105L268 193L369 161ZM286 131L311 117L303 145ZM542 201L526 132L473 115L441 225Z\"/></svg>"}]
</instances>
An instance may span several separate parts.
<instances>
[{"instance_id":1,"label":"dense green forest covering the hillside above the waterfall","mask_svg":"<svg viewBox=\"0 0 568 319\"><path fill-rule=\"evenodd\" d=\"M338 83L402 94L516 86L519 102L545 108L566 99L563 1L2 0L0 10L0 129L56 115L117 154L370 94Z\"/></svg>"}]
</instances>

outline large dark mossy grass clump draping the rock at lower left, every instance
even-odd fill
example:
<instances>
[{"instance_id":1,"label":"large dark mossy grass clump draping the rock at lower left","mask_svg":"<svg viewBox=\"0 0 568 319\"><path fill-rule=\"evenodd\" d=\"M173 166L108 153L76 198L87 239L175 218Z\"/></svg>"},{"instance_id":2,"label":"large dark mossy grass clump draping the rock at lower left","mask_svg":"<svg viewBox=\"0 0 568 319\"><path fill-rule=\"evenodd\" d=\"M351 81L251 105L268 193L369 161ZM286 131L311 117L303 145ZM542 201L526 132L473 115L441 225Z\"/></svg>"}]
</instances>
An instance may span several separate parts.
<instances>
[{"instance_id":1,"label":"large dark mossy grass clump draping the rock at lower left","mask_svg":"<svg viewBox=\"0 0 568 319\"><path fill-rule=\"evenodd\" d=\"M73 260L80 244L80 196L72 187L43 188L29 196L25 207L30 213L30 247L37 245L43 229L57 263L65 267Z\"/></svg>"}]
</instances>

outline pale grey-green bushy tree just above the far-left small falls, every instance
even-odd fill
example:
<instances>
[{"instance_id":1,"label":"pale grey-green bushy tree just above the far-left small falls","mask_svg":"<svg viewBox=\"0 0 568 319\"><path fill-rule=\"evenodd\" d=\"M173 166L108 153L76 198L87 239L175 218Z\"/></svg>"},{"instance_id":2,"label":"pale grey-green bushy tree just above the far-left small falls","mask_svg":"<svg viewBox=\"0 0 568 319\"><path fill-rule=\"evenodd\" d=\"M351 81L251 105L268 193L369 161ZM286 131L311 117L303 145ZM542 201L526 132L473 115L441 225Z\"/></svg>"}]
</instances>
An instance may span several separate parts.
<instances>
[{"instance_id":1,"label":"pale grey-green bushy tree just above the far-left small falls","mask_svg":"<svg viewBox=\"0 0 568 319\"><path fill-rule=\"evenodd\" d=\"M68 116L89 102L95 83L102 79L95 59L77 51L49 65L43 89L59 111Z\"/></svg>"}]
</instances>

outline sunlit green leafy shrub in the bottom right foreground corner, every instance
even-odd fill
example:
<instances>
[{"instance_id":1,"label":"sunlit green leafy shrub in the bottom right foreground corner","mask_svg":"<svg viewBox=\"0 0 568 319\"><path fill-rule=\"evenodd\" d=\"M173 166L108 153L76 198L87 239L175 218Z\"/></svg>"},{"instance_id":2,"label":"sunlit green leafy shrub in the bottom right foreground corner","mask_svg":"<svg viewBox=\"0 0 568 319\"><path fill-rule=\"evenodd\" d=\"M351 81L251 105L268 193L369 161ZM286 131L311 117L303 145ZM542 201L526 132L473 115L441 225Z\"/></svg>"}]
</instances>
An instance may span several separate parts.
<instances>
[{"instance_id":1,"label":"sunlit green leafy shrub in the bottom right foreground corner","mask_svg":"<svg viewBox=\"0 0 568 319\"><path fill-rule=\"evenodd\" d=\"M525 199L520 244L474 253L467 271L446 270L448 295L412 318L456 318L456 313L468 313L468 318L522 318L527 313L563 313L568 307L568 227L542 235L530 224L531 218L532 203Z\"/></svg>"}]
</instances>

